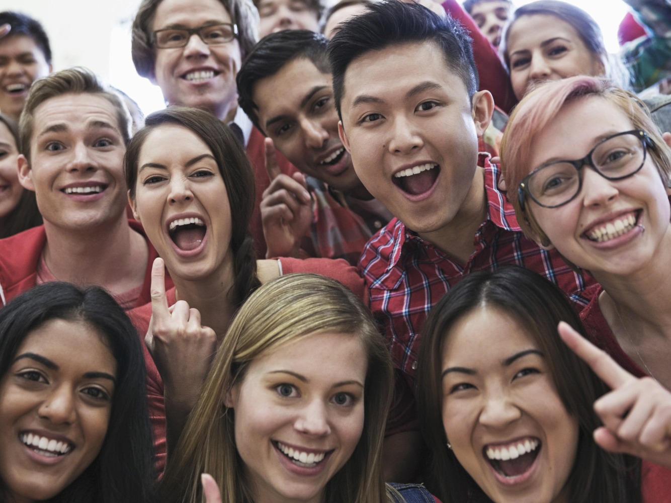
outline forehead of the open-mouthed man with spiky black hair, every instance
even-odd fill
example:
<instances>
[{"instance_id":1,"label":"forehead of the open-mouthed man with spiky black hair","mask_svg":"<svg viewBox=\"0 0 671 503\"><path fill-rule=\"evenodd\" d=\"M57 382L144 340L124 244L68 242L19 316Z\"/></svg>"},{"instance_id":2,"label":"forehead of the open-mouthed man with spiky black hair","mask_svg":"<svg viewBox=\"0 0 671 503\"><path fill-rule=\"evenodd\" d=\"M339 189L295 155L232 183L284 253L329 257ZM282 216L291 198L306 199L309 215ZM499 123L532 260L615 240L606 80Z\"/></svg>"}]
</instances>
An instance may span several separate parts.
<instances>
[{"instance_id":1,"label":"forehead of the open-mouthed man with spiky black hair","mask_svg":"<svg viewBox=\"0 0 671 503\"><path fill-rule=\"evenodd\" d=\"M423 82L433 82L454 99L470 103L466 85L450 71L442 49L433 41L398 44L358 56L345 72L342 103L349 105L364 95L391 103ZM347 111L344 106L342 111Z\"/></svg>"}]
</instances>

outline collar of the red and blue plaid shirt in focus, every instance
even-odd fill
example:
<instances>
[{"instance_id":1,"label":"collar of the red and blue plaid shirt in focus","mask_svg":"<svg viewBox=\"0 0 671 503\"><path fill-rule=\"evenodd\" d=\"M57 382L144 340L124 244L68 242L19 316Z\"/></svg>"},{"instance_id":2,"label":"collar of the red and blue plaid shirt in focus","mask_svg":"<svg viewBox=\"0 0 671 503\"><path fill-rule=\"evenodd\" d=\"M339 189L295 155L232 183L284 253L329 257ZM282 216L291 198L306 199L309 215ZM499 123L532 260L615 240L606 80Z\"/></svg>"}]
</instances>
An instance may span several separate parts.
<instances>
[{"instance_id":1,"label":"collar of the red and blue plaid shirt in focus","mask_svg":"<svg viewBox=\"0 0 671 503\"><path fill-rule=\"evenodd\" d=\"M489 162L489 154L478 155L478 166L484 168L484 193L487 215L486 220L482 222L482 225L480 225L474 236L476 253L481 248L481 246L478 246L478 243L482 243L482 241L486 241L489 237L493 237L498 229L521 232L521 228L515 218L513 206L507 201L505 193L501 192L498 187L501 178L501 169L497 164ZM450 260L440 249L407 229L403 222L397 218L389 222L382 233L389 237L388 243L391 245L389 262L384 274L374 280L370 285L371 288L389 290L398 288L399 283L403 280L403 276L405 276L405 268L399 266L404 253L404 247L406 249L405 253L408 253L409 247L415 247L415 249L424 249L429 254L429 258ZM380 235L380 237L382 236ZM386 246L382 245L380 249L384 247Z\"/></svg>"}]
</instances>

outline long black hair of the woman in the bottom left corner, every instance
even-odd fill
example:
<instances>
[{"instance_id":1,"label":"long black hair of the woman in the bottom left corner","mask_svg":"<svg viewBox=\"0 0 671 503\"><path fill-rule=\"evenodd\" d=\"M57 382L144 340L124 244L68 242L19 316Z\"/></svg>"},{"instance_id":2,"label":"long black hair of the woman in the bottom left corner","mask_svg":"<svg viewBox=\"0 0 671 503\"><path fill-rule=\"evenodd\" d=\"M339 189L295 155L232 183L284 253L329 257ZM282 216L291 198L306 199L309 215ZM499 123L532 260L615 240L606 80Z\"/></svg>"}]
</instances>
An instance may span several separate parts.
<instances>
[{"instance_id":1,"label":"long black hair of the woman in the bottom left corner","mask_svg":"<svg viewBox=\"0 0 671 503\"><path fill-rule=\"evenodd\" d=\"M154 501L152 431L146 399L144 355L136 329L110 294L98 286L50 282L13 298L0 309L0 378L19 346L48 321L86 323L117 362L107 435L93 463L51 503ZM82 355L85 357L85 355ZM0 494L5 490L0 475Z\"/></svg>"}]
</instances>

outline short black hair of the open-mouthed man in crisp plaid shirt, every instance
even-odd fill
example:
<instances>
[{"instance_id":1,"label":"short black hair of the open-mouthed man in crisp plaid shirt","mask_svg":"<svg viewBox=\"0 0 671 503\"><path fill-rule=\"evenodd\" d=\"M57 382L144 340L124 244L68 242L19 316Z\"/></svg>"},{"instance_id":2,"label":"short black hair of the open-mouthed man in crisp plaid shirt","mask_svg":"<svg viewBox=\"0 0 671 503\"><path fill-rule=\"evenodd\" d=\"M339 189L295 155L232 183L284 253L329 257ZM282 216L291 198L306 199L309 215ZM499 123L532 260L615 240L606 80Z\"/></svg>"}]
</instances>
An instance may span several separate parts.
<instances>
[{"instance_id":1,"label":"short black hair of the open-mouthed man in crisp plaid shirt","mask_svg":"<svg viewBox=\"0 0 671 503\"><path fill-rule=\"evenodd\" d=\"M356 58L367 52L408 43L433 42L443 53L446 66L466 87L468 97L478 91L478 70L473 59L472 39L449 15L442 19L417 3L386 0L366 5L367 11L341 24L342 30L329 42L333 74L333 98L338 115L345 93L345 73Z\"/></svg>"}]
</instances>

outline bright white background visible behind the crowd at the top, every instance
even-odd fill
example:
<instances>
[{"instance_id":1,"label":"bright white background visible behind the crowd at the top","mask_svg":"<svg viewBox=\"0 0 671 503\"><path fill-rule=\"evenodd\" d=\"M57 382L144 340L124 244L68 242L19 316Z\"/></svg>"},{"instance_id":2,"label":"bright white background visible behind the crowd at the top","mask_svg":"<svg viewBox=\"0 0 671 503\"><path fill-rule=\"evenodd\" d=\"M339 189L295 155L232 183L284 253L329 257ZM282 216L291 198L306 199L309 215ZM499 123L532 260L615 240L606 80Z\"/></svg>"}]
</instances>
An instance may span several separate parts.
<instances>
[{"instance_id":1,"label":"bright white background visible behind the crowd at the top","mask_svg":"<svg viewBox=\"0 0 671 503\"><path fill-rule=\"evenodd\" d=\"M568 1L597 19L607 48L617 52L617 27L627 5L621 0ZM42 22L55 70L88 66L140 103L147 114L164 103L158 88L136 74L130 57L130 25L138 5L140 0L0 0L0 11L23 12Z\"/></svg>"}]
</instances>

